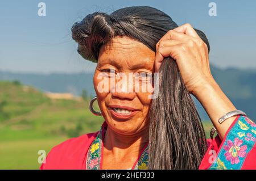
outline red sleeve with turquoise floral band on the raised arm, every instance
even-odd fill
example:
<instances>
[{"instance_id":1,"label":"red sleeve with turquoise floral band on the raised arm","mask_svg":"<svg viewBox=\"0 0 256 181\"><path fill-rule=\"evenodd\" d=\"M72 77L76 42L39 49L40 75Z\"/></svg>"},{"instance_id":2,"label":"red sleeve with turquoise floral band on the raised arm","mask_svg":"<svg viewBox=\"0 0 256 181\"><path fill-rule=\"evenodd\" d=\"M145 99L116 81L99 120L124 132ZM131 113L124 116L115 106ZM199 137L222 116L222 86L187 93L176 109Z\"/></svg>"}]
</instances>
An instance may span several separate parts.
<instances>
[{"instance_id":1,"label":"red sleeve with turquoise floral band on the raised arm","mask_svg":"<svg viewBox=\"0 0 256 181\"><path fill-rule=\"evenodd\" d=\"M256 169L256 124L237 116L221 141L207 140L208 150L199 169Z\"/></svg>"}]
</instances>

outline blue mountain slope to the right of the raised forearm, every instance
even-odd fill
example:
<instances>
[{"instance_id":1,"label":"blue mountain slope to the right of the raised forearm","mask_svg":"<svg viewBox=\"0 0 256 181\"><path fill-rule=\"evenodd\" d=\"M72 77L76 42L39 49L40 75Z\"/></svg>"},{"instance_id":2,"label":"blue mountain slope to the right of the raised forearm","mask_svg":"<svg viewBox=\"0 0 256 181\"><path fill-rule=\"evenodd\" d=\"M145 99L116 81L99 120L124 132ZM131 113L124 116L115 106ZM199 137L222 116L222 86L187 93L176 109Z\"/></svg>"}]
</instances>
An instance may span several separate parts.
<instances>
[{"instance_id":1,"label":"blue mountain slope to the right of the raised forearm","mask_svg":"<svg viewBox=\"0 0 256 181\"><path fill-rule=\"evenodd\" d=\"M238 110L243 110L256 121L256 70L237 68L220 69L211 66L214 79ZM207 119L207 113L196 100L200 116Z\"/></svg>"}]
</instances>

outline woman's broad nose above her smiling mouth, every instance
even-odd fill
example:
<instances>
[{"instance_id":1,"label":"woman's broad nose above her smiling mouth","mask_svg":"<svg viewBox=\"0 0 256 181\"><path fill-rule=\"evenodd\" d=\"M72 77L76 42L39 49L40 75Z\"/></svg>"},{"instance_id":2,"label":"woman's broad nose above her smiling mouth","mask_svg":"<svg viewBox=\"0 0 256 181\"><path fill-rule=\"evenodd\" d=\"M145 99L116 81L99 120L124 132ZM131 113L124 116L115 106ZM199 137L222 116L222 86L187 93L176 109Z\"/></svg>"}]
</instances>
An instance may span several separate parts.
<instances>
[{"instance_id":1,"label":"woman's broad nose above her smiling mouth","mask_svg":"<svg viewBox=\"0 0 256 181\"><path fill-rule=\"evenodd\" d=\"M133 78L123 75L122 79L116 79L115 84L111 87L112 96L119 99L135 98Z\"/></svg>"}]
</instances>

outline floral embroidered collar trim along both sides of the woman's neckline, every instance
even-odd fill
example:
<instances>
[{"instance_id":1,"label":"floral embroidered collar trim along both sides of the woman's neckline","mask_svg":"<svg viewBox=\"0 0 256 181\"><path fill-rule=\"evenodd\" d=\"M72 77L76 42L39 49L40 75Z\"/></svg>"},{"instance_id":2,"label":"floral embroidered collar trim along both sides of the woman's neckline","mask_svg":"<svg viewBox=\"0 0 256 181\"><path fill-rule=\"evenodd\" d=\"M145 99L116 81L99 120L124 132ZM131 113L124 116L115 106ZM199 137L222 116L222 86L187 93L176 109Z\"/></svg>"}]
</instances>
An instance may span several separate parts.
<instances>
[{"instance_id":1,"label":"floral embroidered collar trim along both sides of the woman's neckline","mask_svg":"<svg viewBox=\"0 0 256 181\"><path fill-rule=\"evenodd\" d=\"M89 147L86 159L86 170L100 170L101 169L101 154L102 154L102 137L105 132L104 127L101 127L100 132L93 140ZM147 170L148 169L148 144L142 151L141 156L135 164L134 170Z\"/></svg>"}]
</instances>

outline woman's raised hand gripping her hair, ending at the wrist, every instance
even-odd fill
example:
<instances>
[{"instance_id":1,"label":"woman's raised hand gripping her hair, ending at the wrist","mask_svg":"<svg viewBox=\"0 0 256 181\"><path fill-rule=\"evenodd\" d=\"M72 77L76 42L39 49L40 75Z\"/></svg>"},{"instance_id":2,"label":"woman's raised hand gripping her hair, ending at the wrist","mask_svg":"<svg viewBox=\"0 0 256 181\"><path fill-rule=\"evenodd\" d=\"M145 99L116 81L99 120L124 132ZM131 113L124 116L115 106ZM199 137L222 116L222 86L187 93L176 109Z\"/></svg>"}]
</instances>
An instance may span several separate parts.
<instances>
[{"instance_id":1,"label":"woman's raised hand gripping her hair, ending at the wrist","mask_svg":"<svg viewBox=\"0 0 256 181\"><path fill-rule=\"evenodd\" d=\"M188 91L195 94L202 86L214 82L210 73L207 44L190 24L170 30L156 44L155 71L158 72L164 57L177 62Z\"/></svg>"}]
</instances>

